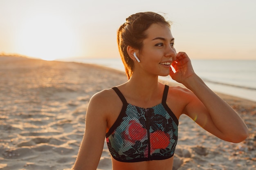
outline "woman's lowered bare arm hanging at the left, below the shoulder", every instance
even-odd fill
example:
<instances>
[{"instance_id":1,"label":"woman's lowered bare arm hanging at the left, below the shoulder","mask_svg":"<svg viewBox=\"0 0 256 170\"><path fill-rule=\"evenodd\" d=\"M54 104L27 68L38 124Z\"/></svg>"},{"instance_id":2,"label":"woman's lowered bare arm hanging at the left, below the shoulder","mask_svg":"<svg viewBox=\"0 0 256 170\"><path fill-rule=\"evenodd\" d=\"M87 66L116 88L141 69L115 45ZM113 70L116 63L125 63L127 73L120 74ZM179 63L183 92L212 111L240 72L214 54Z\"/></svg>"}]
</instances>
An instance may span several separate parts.
<instances>
[{"instance_id":1,"label":"woman's lowered bare arm hanging at the left, below the shoulder","mask_svg":"<svg viewBox=\"0 0 256 170\"><path fill-rule=\"evenodd\" d=\"M85 133L72 170L97 169L107 126L103 98L101 93L97 93L90 99L86 112Z\"/></svg>"}]
</instances>

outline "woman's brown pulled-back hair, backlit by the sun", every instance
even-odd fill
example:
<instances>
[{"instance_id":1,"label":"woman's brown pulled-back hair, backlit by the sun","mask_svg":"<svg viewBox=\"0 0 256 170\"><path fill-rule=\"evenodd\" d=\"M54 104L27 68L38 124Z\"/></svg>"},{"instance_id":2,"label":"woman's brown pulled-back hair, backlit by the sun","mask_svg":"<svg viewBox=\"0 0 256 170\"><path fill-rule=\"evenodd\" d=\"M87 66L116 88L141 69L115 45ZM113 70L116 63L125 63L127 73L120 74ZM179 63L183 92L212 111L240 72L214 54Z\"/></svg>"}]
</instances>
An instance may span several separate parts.
<instances>
[{"instance_id":1,"label":"woman's brown pulled-back hair, backlit by the sun","mask_svg":"<svg viewBox=\"0 0 256 170\"><path fill-rule=\"evenodd\" d=\"M121 25L117 31L118 49L128 79L130 79L132 75L134 61L127 53L127 46L140 50L143 46L143 40L147 37L145 33L146 30L155 23L167 25L169 28L171 27L171 22L166 21L165 18L158 13L140 12L126 18L126 22Z\"/></svg>"}]
</instances>

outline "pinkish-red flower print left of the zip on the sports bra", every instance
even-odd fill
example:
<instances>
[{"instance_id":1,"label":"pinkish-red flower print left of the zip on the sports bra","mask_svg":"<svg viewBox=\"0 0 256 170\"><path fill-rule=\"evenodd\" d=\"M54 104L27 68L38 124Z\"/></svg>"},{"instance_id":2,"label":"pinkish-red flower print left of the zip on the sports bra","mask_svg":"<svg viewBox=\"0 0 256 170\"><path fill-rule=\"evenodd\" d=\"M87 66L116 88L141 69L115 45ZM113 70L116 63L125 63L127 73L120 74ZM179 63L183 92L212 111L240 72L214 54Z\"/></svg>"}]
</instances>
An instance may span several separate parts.
<instances>
[{"instance_id":1,"label":"pinkish-red flower print left of the zip on the sports bra","mask_svg":"<svg viewBox=\"0 0 256 170\"><path fill-rule=\"evenodd\" d=\"M128 133L132 140L140 141L147 134L147 130L137 121L131 120L129 124Z\"/></svg>"}]
</instances>

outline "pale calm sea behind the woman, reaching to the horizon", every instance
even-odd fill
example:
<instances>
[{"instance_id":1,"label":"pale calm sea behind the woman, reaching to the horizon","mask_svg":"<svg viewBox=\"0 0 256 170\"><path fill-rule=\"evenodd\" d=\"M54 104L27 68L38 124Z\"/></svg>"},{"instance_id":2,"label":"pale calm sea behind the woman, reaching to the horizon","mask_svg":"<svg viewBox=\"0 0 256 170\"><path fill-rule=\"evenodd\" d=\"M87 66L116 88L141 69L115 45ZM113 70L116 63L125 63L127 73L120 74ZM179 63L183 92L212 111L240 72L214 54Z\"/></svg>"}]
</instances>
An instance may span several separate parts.
<instances>
[{"instance_id":1,"label":"pale calm sea behind the woman, reaching to the horizon","mask_svg":"<svg viewBox=\"0 0 256 170\"><path fill-rule=\"evenodd\" d=\"M61 61L97 64L124 71L120 58L72 58ZM256 60L192 59L191 62L195 73L213 91L256 102ZM159 76L159 79L175 82L170 76Z\"/></svg>"}]
</instances>

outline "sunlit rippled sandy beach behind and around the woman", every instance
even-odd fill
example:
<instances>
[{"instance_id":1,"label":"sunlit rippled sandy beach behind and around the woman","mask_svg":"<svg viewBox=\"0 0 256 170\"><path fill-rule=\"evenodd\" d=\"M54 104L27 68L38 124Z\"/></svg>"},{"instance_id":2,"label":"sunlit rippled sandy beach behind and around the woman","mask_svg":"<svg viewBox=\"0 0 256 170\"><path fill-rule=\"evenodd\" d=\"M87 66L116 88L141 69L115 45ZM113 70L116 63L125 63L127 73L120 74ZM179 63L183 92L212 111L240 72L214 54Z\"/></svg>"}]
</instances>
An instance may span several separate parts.
<instances>
[{"instance_id":1,"label":"sunlit rippled sandy beach behind and around the woman","mask_svg":"<svg viewBox=\"0 0 256 170\"><path fill-rule=\"evenodd\" d=\"M90 98L126 81L125 73L92 64L0 56L0 170L71 170ZM256 169L256 102L218 95L249 137L229 143L182 116L173 170ZM111 169L105 144L97 170Z\"/></svg>"}]
</instances>

